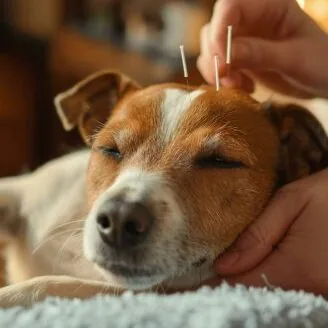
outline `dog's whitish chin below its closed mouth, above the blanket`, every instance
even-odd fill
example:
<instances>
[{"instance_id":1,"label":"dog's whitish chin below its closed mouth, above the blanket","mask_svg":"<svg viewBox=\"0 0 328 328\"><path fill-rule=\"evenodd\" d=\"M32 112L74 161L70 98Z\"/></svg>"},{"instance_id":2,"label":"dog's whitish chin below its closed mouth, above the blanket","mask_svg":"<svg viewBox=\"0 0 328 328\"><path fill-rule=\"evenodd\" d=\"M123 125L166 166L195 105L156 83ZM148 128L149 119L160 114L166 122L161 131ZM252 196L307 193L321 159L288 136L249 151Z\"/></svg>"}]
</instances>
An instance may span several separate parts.
<instances>
[{"instance_id":1,"label":"dog's whitish chin below its closed mouth, above the blanket","mask_svg":"<svg viewBox=\"0 0 328 328\"><path fill-rule=\"evenodd\" d=\"M154 269L129 268L124 265L108 265L107 268L96 265L104 278L117 287L130 290L149 290L162 283L166 276Z\"/></svg>"}]
</instances>

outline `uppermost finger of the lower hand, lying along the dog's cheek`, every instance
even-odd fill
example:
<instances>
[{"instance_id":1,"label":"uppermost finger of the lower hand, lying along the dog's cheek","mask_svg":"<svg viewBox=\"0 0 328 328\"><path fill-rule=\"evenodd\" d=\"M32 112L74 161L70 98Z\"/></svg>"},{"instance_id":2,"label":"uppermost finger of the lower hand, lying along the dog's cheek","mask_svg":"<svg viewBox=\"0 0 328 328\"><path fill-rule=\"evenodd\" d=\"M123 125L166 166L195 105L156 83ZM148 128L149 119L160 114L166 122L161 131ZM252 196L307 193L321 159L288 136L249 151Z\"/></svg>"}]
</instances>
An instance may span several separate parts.
<instances>
[{"instance_id":1,"label":"uppermost finger of the lower hand, lying along the dog's cheek","mask_svg":"<svg viewBox=\"0 0 328 328\"><path fill-rule=\"evenodd\" d=\"M308 204L309 193L300 185L291 184L276 194L261 217L218 259L214 269L219 274L250 270L272 252Z\"/></svg>"}]
</instances>

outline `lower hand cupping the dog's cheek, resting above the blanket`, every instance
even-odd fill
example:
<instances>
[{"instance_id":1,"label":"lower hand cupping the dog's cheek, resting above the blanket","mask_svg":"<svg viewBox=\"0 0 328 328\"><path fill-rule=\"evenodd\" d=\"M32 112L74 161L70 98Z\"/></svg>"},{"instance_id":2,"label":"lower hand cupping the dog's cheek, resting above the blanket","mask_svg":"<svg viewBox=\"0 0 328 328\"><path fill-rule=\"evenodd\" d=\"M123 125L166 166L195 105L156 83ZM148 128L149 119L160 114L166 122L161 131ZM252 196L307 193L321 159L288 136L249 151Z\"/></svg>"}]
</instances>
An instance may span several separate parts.
<instances>
[{"instance_id":1,"label":"lower hand cupping the dog's cheek, resting above the blanket","mask_svg":"<svg viewBox=\"0 0 328 328\"><path fill-rule=\"evenodd\" d=\"M210 281L328 295L328 169L281 189L215 263Z\"/></svg>"}]
</instances>

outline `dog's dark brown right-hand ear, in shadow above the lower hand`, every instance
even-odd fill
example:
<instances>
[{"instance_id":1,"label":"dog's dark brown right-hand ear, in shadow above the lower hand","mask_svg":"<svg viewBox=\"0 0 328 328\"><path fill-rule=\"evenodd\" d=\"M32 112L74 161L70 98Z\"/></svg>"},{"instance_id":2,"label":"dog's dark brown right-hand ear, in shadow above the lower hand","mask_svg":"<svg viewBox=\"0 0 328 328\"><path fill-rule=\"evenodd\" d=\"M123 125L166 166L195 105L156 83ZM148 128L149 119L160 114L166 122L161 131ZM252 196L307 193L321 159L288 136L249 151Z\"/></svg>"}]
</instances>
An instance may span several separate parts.
<instances>
[{"instance_id":1,"label":"dog's dark brown right-hand ear, in shadow above the lower hand","mask_svg":"<svg viewBox=\"0 0 328 328\"><path fill-rule=\"evenodd\" d=\"M279 184L295 181L328 166L328 138L320 122L298 105L265 104L280 138Z\"/></svg>"}]
</instances>

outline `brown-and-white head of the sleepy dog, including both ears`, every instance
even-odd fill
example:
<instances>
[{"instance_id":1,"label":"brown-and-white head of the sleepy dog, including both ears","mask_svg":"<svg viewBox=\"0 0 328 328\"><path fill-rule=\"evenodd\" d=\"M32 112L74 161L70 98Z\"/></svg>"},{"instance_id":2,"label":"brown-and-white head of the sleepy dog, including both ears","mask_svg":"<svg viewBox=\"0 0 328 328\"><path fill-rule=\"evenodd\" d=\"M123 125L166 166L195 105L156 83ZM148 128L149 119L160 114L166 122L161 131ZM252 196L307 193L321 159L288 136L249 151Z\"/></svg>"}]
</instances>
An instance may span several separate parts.
<instances>
[{"instance_id":1,"label":"brown-and-white head of the sleepy dog, including both ears","mask_svg":"<svg viewBox=\"0 0 328 328\"><path fill-rule=\"evenodd\" d=\"M142 89L101 72L56 106L65 128L78 125L92 149L85 255L128 288L196 279L278 184L327 162L327 139L311 114L237 90Z\"/></svg>"}]
</instances>

